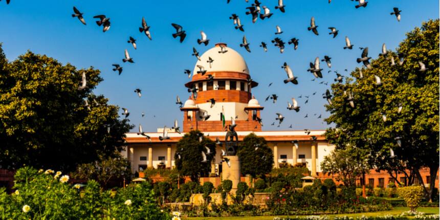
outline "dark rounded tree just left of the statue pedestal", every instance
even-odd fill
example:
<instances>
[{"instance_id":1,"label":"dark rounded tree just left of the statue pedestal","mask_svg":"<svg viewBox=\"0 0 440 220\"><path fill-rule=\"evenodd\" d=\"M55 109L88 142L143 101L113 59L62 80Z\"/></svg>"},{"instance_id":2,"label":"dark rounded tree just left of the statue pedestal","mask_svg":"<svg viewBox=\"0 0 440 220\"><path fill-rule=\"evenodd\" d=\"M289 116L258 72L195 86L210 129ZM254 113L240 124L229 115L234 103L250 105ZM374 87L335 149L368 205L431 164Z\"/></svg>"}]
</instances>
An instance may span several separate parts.
<instances>
[{"instance_id":1,"label":"dark rounded tree just left of the statue pedestal","mask_svg":"<svg viewBox=\"0 0 440 220\"><path fill-rule=\"evenodd\" d=\"M200 141L202 137L202 141ZM215 142L203 136L199 130L191 130L177 143L174 155L175 167L182 175L188 175L191 181L199 183L202 174L211 171L211 161L215 157ZM209 148L210 153L208 153ZM202 151L206 155L203 162Z\"/></svg>"}]
</instances>

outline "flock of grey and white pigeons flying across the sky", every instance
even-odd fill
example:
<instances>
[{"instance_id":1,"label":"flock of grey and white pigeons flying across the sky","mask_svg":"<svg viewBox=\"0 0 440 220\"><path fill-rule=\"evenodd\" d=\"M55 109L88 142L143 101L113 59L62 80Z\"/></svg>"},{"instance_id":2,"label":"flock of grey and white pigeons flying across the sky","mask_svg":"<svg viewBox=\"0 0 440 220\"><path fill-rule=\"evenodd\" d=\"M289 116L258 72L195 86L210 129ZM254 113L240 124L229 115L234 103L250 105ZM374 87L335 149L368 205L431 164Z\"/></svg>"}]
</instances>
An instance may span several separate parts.
<instances>
[{"instance_id":1,"label":"flock of grey and white pigeons flying across the sky","mask_svg":"<svg viewBox=\"0 0 440 220\"><path fill-rule=\"evenodd\" d=\"M245 1L248 2L249 0L245 0ZM351 1L358 2L358 4L355 6L355 8L357 8L357 9L361 8L361 7L365 8L365 7L367 7L367 4L368 4L368 2L366 2L365 0L351 0ZM227 0L227 3L229 3L229 2L230 2L230 0ZM6 3L9 4L10 0L6 0ZM330 4L331 0L328 0L328 3ZM283 4L283 1L282 0L278 0L278 5L275 6L275 10L279 10L281 13L285 13L286 12L286 8L287 8L287 6L285 6ZM271 10L267 6L261 6L261 2L259 2L258 0L255 0L254 3L252 3L251 6L247 7L246 9L247 9L246 15L251 15L252 23L256 23L258 18L261 19L261 20L270 19L271 16L273 15ZM392 12L390 14L394 15L397 18L397 20L400 21L401 20L401 12L402 11L399 10L399 8L393 8ZM78 20L83 25L86 25L86 21L84 19L83 13L80 10L78 10L76 7L73 7L72 17L78 18ZM103 32L107 32L111 28L111 21L110 21L111 19L109 17L107 17L106 15L96 15L96 16L93 16L93 18L97 19L96 20L96 25L98 25L99 27L102 27L102 31ZM236 30L239 30L241 32L245 32L244 25L241 24L240 17L237 14L232 14L229 17L229 19L233 20L234 28ZM186 35L187 35L185 30L184 30L184 28L181 25L174 24L174 23L171 24L171 26L175 29L175 32L171 33L171 36L173 38L179 39L180 42L183 42L185 40L185 38L186 38ZM310 26L307 27L307 30L311 31L315 35L319 35L318 27L319 26L316 24L315 18L312 17L311 20L310 20ZM328 29L329 29L329 33L328 34L332 35L333 38L335 38L339 34L339 30L337 28L335 28L335 27L328 27ZM149 40L152 40L151 33L150 33L150 26L147 25L146 20L145 20L144 17L142 17L141 27L139 27L139 32L140 33L144 33L145 36ZM274 46L279 49L280 53L283 53L283 51L286 49L287 45L292 45L293 46L293 50L297 50L298 46L299 46L299 39L295 38L295 37L291 38L291 39L289 39L287 41L287 45L286 45L286 43L280 37L278 37L282 33L283 33L283 31L282 31L281 27L276 26L275 35L277 37L275 37L273 40L271 40L271 42L274 44ZM203 32L203 31L201 31L201 38L196 40L196 42L199 45L203 44L205 46L207 46L209 44L209 41L210 40L209 40L207 34L205 32ZM129 38L127 40L127 43L130 43L130 45L133 46L133 48L135 50L137 49L136 39L134 37L129 36ZM248 39L244 35L243 39L242 39L242 42L240 43L240 47L243 47L246 51L248 51L250 53L251 49L250 49L249 45L250 45L250 43L248 42ZM266 42L261 42L259 47L261 47L264 52L268 51L268 48L267 48L268 44ZM354 45L351 43L349 38L347 36L345 36L345 47L343 47L343 49L352 50L353 48L354 48ZM224 54L224 53L228 52L227 48L225 46L223 46L223 45L220 45L219 49L220 50L218 51L218 53ZM365 66L365 68L371 69L372 66L369 63L369 59L371 59L371 57L368 56L368 47L365 47L365 48L359 47L359 49L362 50L362 53L361 53L360 58L358 58L356 61L358 63L362 62L362 64ZM193 51L192 52L193 52L192 56L195 56L197 60L201 60L199 52L197 52L197 50L194 47L193 47ZM385 43L382 46L382 53L380 54L380 56L386 56L387 59L390 60L390 65L396 65L396 64L402 65L403 62L404 62L404 58L405 58L405 54L398 54L397 63L396 63L395 62L395 57L392 56L387 51ZM325 62L325 64L327 65L328 68L332 68L331 59L332 58L330 56L325 55L323 59L320 59L319 57L316 57L313 62L310 62L310 68L307 69L307 71L312 73L313 76L315 77L314 79L312 79L313 81L315 81L315 79L322 78L322 71L323 71L323 69L320 66L321 61ZM125 63L125 62L135 63L133 57L130 57L129 52L128 52L127 49L125 49L125 51L124 51L124 58L122 59L122 61L123 61L123 63ZM215 60L213 60L211 57L209 57L209 59L207 60L207 63L209 65L209 67L212 66L213 62L215 62ZM114 67L113 71L115 71L119 75L121 75L121 73L123 72L122 65L119 64L119 63L115 63L115 64L112 64L112 65ZM419 65L420 65L420 70L419 71L421 71L421 72L426 71L428 69L428 68L426 68L426 66L425 66L425 64L423 62L419 62ZM201 74L202 76L205 75L208 72L203 65L197 65L197 68L199 68L199 71L197 71L196 73L197 74ZM293 73L292 69L290 68L290 66L289 66L289 64L287 62L284 62L283 65L281 66L281 68L287 74L287 79L284 79L284 81L283 81L284 83L293 83L295 85L298 84L298 80L297 80L298 77L294 76L294 73ZM347 70L345 70L345 71L347 72ZM331 70L328 71L328 73L331 73L331 72L332 72ZM344 77L341 74L339 74L338 71L333 71L333 72L336 73L336 78L334 79L334 81L337 82L337 83L342 83ZM191 77L191 71L190 70L184 70L184 73L188 76L188 78ZM207 75L207 78L206 78L207 80L209 80L209 81L214 80L214 77L212 75L210 75L210 74L206 74L206 75ZM360 69L360 76L359 76L359 78L363 78L363 76L362 76L362 69ZM381 81L379 76L375 75L375 80L376 81L372 82L372 83L375 83L378 86L382 84L382 81ZM250 84L251 82L252 82L252 79L248 79L248 83ZM327 83L328 82L324 82L324 81L320 82L320 84L325 84L325 85L327 85ZM271 86L272 84L273 84L273 82L269 83L269 86ZM87 87L87 80L86 80L86 75L83 72L82 73L82 77L81 77L80 85L78 86L78 90L83 90L86 87ZM134 90L134 92L139 97L142 96L141 89L137 88L137 89ZM197 89L195 87L192 87L192 88L188 89L188 92L192 93L194 99L197 97ZM315 95L316 93L317 92L314 92L312 94L312 96ZM322 94L322 96L323 96L324 99L327 100L327 102L329 104L332 104L332 94L331 94L331 92L329 90L326 90L326 92L324 94ZM304 104L307 104L307 102L309 101L310 95L307 95L307 96L304 95L304 97L306 98L306 100L304 101ZM269 95L265 99L265 101L268 101L269 99L271 99L271 100L273 100L273 103L276 103L277 98L278 98L278 96L276 94L272 94L272 95ZM300 95L298 98L302 98L302 95ZM215 105L216 100L215 99L210 99L210 100L207 100L207 102L211 102L211 107L213 107ZM353 93L348 93L347 102L349 103L349 105L351 107L355 106L355 101L354 101ZM180 105L180 106L183 105L183 103L180 100L179 96L177 96L177 100L176 100L175 103ZM87 106L88 109L90 109L90 106L87 103L87 100L85 100L85 105ZM298 103L298 100L295 99L295 98L292 98L292 103L288 102L287 109L294 110L295 112L299 112L300 111L300 105ZM122 108L122 110L123 110L122 115L124 115L125 118L127 118L130 115L128 109L127 108ZM402 105L399 104L399 110L398 111L400 112L401 110L402 110ZM276 115L277 116L276 116L275 120L278 121L278 127L279 127L281 125L281 123L283 122L284 117L280 113L276 113ZM316 116L317 114L314 114L314 115ZM144 116L144 113L142 113L142 117L143 116ZM200 116L200 118L203 119L203 120L207 120L209 117L210 116L207 113L201 114L201 116ZM307 117L309 117L308 114L306 114L304 116L304 118L307 118ZM322 117L322 115L317 116L317 118L321 118L321 117ZM382 118L383 118L383 121L386 121L386 115L385 114L382 116ZM232 117L231 117L231 119L232 119ZM260 118L258 118L257 120L262 125L262 120ZM273 122L271 125L275 125L275 122ZM177 120L174 121L174 125L171 128L174 129L175 131L177 131L179 134L181 133L180 127L178 125L178 121ZM292 124L289 126L289 128L292 128ZM310 134L310 130L309 129L304 129L304 132L307 135ZM142 135L142 136L146 137L147 139L149 139L151 141L150 137L143 131L141 124L139 124L138 135ZM160 136L159 139L161 141L169 139L168 129L167 129L166 126L164 126L163 135ZM313 136L312 140L316 140L316 137ZM400 143L400 138L399 137L396 138L396 140L398 141L398 143ZM220 144L218 139L217 139L216 142L217 142L217 144ZM294 143L294 144L296 143L297 144L297 141L293 141L292 143ZM210 152L209 148L207 149L207 152L209 154L209 152ZM206 161L205 152L202 152L202 153L203 153L204 161ZM391 153L392 153L392 156L393 156L393 152L391 152ZM223 151L222 154L225 154L225 152ZM179 157L180 157L180 155L179 155Z\"/></svg>"}]
</instances>

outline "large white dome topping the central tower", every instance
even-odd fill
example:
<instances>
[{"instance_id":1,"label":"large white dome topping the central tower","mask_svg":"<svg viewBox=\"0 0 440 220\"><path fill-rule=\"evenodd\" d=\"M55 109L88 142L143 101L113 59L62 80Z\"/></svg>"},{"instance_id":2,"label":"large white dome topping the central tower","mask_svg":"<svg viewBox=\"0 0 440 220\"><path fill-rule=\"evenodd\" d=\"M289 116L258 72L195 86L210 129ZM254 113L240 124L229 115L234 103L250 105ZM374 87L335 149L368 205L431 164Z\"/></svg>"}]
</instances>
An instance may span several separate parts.
<instances>
[{"instance_id":1,"label":"large white dome topping the central tower","mask_svg":"<svg viewBox=\"0 0 440 220\"><path fill-rule=\"evenodd\" d=\"M194 71L192 72L193 75L197 74L197 71L199 71L197 65L202 65L207 72L238 72L249 74L248 65L246 64L245 59L243 59L238 52L226 47L228 52L218 53L221 51L218 45L219 43L217 43L215 47L207 50L200 57L200 60L197 60L194 66ZM209 63L206 62L209 57L214 60L211 68L209 67Z\"/></svg>"}]
</instances>

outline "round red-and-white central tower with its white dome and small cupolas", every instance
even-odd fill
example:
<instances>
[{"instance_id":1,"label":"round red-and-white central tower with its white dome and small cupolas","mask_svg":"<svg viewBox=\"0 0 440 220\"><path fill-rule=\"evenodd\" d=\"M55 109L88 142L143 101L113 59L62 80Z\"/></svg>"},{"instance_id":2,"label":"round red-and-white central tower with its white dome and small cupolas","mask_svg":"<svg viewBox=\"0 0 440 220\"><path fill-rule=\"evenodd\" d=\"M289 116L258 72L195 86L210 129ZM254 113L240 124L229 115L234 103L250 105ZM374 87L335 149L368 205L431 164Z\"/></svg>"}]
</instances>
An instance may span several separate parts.
<instances>
[{"instance_id":1,"label":"round red-and-white central tower with its white dome and small cupolas","mask_svg":"<svg viewBox=\"0 0 440 220\"><path fill-rule=\"evenodd\" d=\"M221 46L225 53L222 53ZM213 60L211 63L209 60ZM201 65L206 73L197 73ZM212 76L213 79L209 79ZM201 131L223 131L225 126L235 120L237 131L261 131L258 100L252 97L251 90L258 83L250 80L246 61L226 43L217 43L206 51L195 63L191 81L185 84L195 87L197 96L185 101L181 111L184 112L183 131L191 129ZM252 97L252 98L251 98ZM215 104L211 105L211 99ZM209 118L203 116L209 115Z\"/></svg>"}]
</instances>

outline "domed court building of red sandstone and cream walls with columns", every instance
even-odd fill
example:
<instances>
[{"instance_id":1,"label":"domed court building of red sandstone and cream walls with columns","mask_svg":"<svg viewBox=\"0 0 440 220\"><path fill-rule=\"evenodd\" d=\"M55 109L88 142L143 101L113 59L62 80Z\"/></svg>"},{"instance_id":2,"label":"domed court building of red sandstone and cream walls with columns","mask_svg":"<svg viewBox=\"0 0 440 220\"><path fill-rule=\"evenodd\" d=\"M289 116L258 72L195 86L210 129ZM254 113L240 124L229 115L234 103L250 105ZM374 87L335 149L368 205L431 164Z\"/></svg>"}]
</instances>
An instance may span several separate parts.
<instances>
[{"instance_id":1,"label":"domed court building of red sandstone and cream walls with columns","mask_svg":"<svg viewBox=\"0 0 440 220\"><path fill-rule=\"evenodd\" d=\"M264 107L252 96L252 88L258 83L255 81L248 83L248 79L251 78L249 69L238 52L226 47L227 53L219 53L221 51L219 45L226 47L224 43L217 43L214 48L206 51L200 57L201 60L194 65L191 81L185 84L188 88L195 86L198 92L196 99L189 98L180 108L183 113L182 121L179 121L182 134L170 129L168 133L170 139L160 141L159 136L162 136L163 128L158 128L155 133L146 133L151 137L151 142L137 133L126 134L126 150L121 153L129 159L132 171L136 172L140 168L172 169L176 144L191 129L199 129L213 141L219 138L224 142L226 130L221 120L221 114L224 114L226 126L231 124L231 117L236 117L235 130L239 141L250 133L266 139L274 153L274 167L277 168L282 163L291 165L302 163L311 171L312 176L328 178L322 175L320 163L335 146L325 140L323 136L325 130L311 130L309 135L305 134L304 130L262 131L257 117L260 117L260 111L263 111ZM208 57L215 60L212 68L209 68L207 63ZM199 68L196 65L199 64L207 70L204 76L197 74ZM214 77L213 81L207 79L208 74ZM212 108L211 103L207 102L211 98L216 100ZM207 120L200 118L205 113L210 115ZM317 137L316 141L311 140L312 136ZM293 140L298 140L298 147L292 143ZM217 145L216 164L211 168L211 172L216 173L217 177L221 176L221 149L222 147ZM424 182L429 183L429 172L421 170L421 175ZM404 178L403 175L402 177ZM386 172L379 173L373 170L365 179L366 184L372 187L384 187L389 181L394 182ZM438 181L436 184L438 185Z\"/></svg>"}]
</instances>

